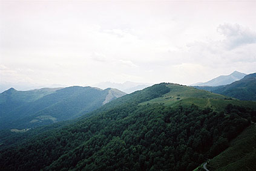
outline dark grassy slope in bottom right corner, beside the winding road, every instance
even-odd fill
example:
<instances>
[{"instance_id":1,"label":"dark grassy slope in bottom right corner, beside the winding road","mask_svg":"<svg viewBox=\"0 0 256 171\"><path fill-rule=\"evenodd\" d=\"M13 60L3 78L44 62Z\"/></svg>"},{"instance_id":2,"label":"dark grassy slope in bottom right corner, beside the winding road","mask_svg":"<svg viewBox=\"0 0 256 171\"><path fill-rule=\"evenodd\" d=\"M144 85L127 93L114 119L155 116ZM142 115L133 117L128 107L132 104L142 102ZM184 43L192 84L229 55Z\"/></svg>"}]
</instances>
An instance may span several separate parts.
<instances>
[{"instance_id":1,"label":"dark grassy slope in bottom right corner, beside the winding road","mask_svg":"<svg viewBox=\"0 0 256 171\"><path fill-rule=\"evenodd\" d=\"M209 164L209 170L256 170L256 125L248 127Z\"/></svg>"}]
</instances>

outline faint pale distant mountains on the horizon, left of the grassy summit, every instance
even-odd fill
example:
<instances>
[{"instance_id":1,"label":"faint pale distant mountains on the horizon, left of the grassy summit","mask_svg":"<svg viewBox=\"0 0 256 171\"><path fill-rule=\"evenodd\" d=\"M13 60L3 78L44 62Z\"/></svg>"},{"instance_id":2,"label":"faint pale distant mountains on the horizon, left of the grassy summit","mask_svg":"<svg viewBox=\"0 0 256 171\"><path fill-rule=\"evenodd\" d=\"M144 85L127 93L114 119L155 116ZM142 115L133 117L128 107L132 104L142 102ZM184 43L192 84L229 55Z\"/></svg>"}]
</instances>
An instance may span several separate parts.
<instances>
[{"instance_id":1,"label":"faint pale distant mountains on the horizon, left of the grassy summit","mask_svg":"<svg viewBox=\"0 0 256 171\"><path fill-rule=\"evenodd\" d=\"M101 82L101 83L97 83L96 85L93 85L93 86L96 86L101 89L116 88L116 89L120 89L120 91L130 94L131 92L142 90L151 85L153 85L153 84L151 84L151 83L135 83L135 82L124 82L124 83Z\"/></svg>"}]
</instances>

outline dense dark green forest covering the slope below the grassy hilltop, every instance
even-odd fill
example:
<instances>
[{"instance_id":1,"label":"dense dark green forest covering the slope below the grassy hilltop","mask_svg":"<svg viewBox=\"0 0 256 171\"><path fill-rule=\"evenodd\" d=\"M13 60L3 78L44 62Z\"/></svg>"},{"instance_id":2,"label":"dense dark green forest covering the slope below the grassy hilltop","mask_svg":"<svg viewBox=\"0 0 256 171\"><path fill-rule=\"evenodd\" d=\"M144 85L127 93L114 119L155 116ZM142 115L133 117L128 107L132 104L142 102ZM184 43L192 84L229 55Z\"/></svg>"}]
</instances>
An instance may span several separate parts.
<instances>
[{"instance_id":1,"label":"dense dark green forest covering the slope below the grassy hilltop","mask_svg":"<svg viewBox=\"0 0 256 171\"><path fill-rule=\"evenodd\" d=\"M4 150L1 165L18 170L191 170L226 149L254 116L255 111L232 105L223 112L194 105L124 105Z\"/></svg>"}]
</instances>

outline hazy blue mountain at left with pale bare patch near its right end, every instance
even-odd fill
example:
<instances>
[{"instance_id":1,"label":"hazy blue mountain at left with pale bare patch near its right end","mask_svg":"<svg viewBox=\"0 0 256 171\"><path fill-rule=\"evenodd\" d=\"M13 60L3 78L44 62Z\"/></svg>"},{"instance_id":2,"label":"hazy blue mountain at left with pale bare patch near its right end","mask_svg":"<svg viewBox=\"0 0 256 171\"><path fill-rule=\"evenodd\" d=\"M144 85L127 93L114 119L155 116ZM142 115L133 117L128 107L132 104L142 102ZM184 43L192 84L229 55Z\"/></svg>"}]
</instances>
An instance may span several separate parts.
<instances>
[{"instance_id":1,"label":"hazy blue mountain at left with pale bare patch near its right end","mask_svg":"<svg viewBox=\"0 0 256 171\"><path fill-rule=\"evenodd\" d=\"M71 86L0 94L0 129L27 129L70 120L125 95L117 89Z\"/></svg>"}]
</instances>

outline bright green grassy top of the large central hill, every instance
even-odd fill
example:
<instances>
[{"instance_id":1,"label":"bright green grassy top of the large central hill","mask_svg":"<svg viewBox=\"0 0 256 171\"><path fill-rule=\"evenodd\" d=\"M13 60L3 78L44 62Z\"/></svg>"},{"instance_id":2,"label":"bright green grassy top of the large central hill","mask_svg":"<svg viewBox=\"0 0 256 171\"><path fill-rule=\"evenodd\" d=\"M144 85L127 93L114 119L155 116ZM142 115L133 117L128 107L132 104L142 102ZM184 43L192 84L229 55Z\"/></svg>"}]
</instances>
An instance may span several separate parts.
<instances>
[{"instance_id":1,"label":"bright green grassy top of the large central hill","mask_svg":"<svg viewBox=\"0 0 256 171\"><path fill-rule=\"evenodd\" d=\"M192 103L200 108L209 107L214 110L224 109L226 105L231 103L232 105L245 106L250 108L256 108L256 102L240 101L240 100L225 100L224 95L215 94L213 92L204 91L202 89L196 89L190 86L180 86L177 84L168 84L171 91L162 97L154 98L147 102L140 103L146 105L147 103L162 103L166 106L190 106Z\"/></svg>"}]
</instances>

